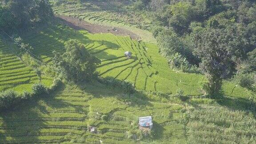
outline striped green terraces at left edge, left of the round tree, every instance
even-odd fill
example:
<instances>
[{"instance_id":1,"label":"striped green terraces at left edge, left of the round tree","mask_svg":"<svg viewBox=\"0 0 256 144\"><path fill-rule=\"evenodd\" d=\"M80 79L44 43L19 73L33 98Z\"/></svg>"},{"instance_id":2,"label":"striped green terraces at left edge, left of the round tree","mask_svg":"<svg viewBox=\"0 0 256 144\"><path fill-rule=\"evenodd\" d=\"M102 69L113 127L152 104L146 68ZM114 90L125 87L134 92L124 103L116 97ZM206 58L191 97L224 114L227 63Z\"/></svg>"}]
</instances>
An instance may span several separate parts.
<instances>
[{"instance_id":1,"label":"striped green terraces at left edge, left of the round tree","mask_svg":"<svg viewBox=\"0 0 256 144\"><path fill-rule=\"evenodd\" d=\"M42 76L42 82L49 86L52 78ZM31 91L32 84L38 83L36 72L27 67L10 48L0 40L0 91L14 89L18 92Z\"/></svg>"}]
</instances>

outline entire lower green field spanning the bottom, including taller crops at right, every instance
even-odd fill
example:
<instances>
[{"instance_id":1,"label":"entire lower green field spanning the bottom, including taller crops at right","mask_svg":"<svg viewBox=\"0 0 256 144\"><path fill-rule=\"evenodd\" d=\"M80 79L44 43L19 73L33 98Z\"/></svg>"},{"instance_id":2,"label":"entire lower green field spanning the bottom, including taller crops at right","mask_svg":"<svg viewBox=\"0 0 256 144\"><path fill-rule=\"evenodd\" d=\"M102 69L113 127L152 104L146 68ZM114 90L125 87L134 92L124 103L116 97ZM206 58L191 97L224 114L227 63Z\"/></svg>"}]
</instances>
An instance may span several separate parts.
<instances>
[{"instance_id":1,"label":"entire lower green field spanning the bottom, including taller crops at right","mask_svg":"<svg viewBox=\"0 0 256 144\"><path fill-rule=\"evenodd\" d=\"M201 98L162 103L140 95L129 98L101 84L66 85L49 97L1 112L0 143L255 143L253 113L230 110L233 104L225 104L232 101L221 104ZM237 108L243 108L237 102ZM140 116L153 117L151 138L143 138L138 130ZM89 126L98 133L89 132Z\"/></svg>"}]
</instances>

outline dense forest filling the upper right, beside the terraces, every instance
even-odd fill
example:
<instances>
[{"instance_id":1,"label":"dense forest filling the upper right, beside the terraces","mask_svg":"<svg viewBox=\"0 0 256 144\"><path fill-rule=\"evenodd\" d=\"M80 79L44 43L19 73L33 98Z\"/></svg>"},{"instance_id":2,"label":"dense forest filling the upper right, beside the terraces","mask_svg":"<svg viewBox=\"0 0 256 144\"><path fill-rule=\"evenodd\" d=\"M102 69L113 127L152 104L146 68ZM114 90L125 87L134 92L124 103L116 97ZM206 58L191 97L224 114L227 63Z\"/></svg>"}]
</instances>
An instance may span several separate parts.
<instances>
[{"instance_id":1,"label":"dense forest filling the upper right, beside the terraces","mask_svg":"<svg viewBox=\"0 0 256 144\"><path fill-rule=\"evenodd\" d=\"M136 0L135 5L150 13L151 31L172 67L184 68L180 57L187 67L197 65L208 78L204 88L210 96L220 95L222 80L230 78L256 91L255 0Z\"/></svg>"}]
</instances>

